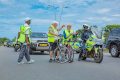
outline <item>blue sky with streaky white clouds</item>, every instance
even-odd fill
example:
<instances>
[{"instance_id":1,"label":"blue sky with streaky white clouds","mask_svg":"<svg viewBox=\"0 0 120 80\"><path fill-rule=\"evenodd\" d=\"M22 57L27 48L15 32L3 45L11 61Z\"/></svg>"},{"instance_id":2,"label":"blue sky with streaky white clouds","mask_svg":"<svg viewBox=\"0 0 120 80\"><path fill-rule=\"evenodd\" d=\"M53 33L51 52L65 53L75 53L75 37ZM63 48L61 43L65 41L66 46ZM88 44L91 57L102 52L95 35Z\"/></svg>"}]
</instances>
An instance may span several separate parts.
<instances>
[{"instance_id":1,"label":"blue sky with streaky white clouds","mask_svg":"<svg viewBox=\"0 0 120 80\"><path fill-rule=\"evenodd\" d=\"M99 28L120 22L119 0L0 0L0 37L14 38L26 17L33 32L47 32L53 21Z\"/></svg>"}]
</instances>

